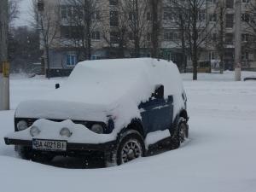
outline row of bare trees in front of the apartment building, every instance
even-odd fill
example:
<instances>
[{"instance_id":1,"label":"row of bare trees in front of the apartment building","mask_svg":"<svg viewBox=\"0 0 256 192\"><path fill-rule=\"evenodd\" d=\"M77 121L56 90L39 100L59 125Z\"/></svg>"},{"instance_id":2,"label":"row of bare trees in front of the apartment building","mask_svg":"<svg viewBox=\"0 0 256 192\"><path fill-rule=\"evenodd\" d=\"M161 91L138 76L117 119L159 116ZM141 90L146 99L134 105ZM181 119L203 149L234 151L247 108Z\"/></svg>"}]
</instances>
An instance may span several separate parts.
<instances>
[{"instance_id":1,"label":"row of bare trees in front of the apartment building","mask_svg":"<svg viewBox=\"0 0 256 192\"><path fill-rule=\"evenodd\" d=\"M102 2L104 3L104 2ZM218 20L212 25L211 20L207 19L205 0L131 0L131 1L110 1L115 5L110 11L104 4L96 0L67 0L67 6L55 7L55 12L60 11L59 15L65 15L64 19L69 26L71 34L68 45L76 47L79 55L84 59L90 60L92 53L92 38L96 35L94 32L101 28L102 37L108 43L110 49L116 49L116 57L125 57L125 51L129 50L130 55L139 57L145 49L150 48L152 57L160 57L160 43L163 37L162 24L163 12L167 13L166 19L169 24L174 25L179 31L179 39L174 39L172 44L182 49L182 66L184 72L187 67L187 55L190 56L193 63L193 79L197 79L198 61L203 47L206 46L207 39L217 23L219 23L218 44L215 44L219 50L219 57L224 57L224 3L219 0L216 6L218 9ZM70 6L68 6L70 5ZM51 8L52 9L52 8ZM53 35L55 32L44 32L55 28L49 22L52 16L50 9L44 9L43 20L41 22L41 33ZM61 18L58 19L60 21ZM110 26L109 26L110 20ZM174 22L173 22L174 21ZM40 23L40 22L39 22ZM53 27L47 27L47 26ZM59 24L60 25L60 24ZM57 28L55 28L57 30ZM221 33L221 34L220 34ZM44 35L43 35L44 37ZM51 38L54 39L54 38ZM72 44L70 44L72 42ZM149 42L149 43L148 43ZM44 41L45 49L49 49L51 41ZM67 40L64 41L67 45ZM47 52L47 51L46 51ZM49 55L46 57L49 58ZM49 59L48 59L49 60ZM49 62L49 61L47 61ZM221 62L223 63L223 61ZM223 69L223 65L221 65Z\"/></svg>"}]
</instances>

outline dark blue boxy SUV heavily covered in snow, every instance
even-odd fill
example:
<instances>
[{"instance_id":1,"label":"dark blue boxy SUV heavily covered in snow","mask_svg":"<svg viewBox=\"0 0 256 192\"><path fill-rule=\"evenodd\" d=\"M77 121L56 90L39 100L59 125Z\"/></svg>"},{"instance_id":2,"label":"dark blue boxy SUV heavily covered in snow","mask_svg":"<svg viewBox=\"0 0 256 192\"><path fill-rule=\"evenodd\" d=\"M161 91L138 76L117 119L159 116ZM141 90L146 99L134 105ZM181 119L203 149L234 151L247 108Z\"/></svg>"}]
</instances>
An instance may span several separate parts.
<instances>
[{"instance_id":1,"label":"dark blue boxy SUV heavily covered in snow","mask_svg":"<svg viewBox=\"0 0 256 192\"><path fill-rule=\"evenodd\" d=\"M172 61L83 61L60 89L21 102L4 140L25 159L99 152L120 165L160 140L179 147L189 134L186 102Z\"/></svg>"}]
</instances>

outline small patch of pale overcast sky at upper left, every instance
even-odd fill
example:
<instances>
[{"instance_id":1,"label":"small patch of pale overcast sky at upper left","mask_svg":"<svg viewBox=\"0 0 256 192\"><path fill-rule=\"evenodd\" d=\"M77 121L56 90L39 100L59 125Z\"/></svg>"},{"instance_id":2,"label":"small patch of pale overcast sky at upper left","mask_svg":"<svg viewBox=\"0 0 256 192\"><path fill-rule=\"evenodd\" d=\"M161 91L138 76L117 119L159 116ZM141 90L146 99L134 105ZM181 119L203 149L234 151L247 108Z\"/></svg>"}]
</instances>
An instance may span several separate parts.
<instances>
[{"instance_id":1,"label":"small patch of pale overcast sky at upper left","mask_svg":"<svg viewBox=\"0 0 256 192\"><path fill-rule=\"evenodd\" d=\"M31 3L32 0L20 0L20 17L15 20L15 26L29 25L29 20L31 20L31 15L29 13Z\"/></svg>"}]
</instances>

